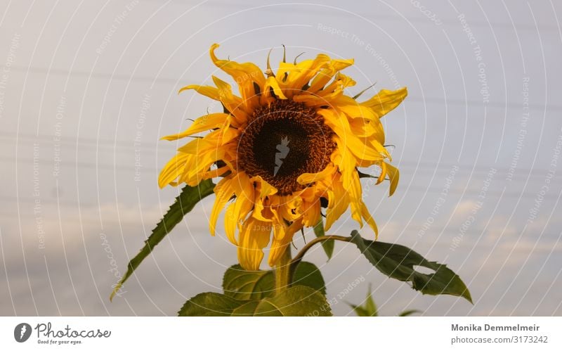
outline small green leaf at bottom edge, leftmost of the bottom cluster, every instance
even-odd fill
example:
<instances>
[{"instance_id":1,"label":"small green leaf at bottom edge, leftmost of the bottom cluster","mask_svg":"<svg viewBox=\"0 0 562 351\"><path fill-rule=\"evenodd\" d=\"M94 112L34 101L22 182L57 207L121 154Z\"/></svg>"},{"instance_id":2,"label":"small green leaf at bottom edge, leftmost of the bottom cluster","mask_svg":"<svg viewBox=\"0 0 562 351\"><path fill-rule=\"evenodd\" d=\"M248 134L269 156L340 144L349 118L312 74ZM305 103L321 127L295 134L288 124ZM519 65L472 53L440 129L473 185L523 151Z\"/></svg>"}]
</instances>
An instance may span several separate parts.
<instances>
[{"instance_id":1,"label":"small green leaf at bottom edge, leftmost of the bottom cluster","mask_svg":"<svg viewBox=\"0 0 562 351\"><path fill-rule=\"evenodd\" d=\"M179 317L221 317L230 316L246 301L236 300L219 293L200 293L190 298L178 312Z\"/></svg>"}]
</instances>

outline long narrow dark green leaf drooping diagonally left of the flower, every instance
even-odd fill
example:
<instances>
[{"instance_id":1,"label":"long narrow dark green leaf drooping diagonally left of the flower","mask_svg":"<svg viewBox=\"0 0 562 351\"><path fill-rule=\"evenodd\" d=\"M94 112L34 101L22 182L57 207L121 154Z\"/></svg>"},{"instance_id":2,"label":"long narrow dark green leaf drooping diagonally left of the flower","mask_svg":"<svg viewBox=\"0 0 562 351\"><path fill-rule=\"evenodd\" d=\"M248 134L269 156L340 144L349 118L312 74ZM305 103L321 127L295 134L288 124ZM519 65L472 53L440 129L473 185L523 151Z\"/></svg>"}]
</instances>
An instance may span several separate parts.
<instances>
[{"instance_id":1,"label":"long narrow dark green leaf drooping diagonally left of the flower","mask_svg":"<svg viewBox=\"0 0 562 351\"><path fill-rule=\"evenodd\" d=\"M121 281L117 283L117 286L115 286L115 289L111 293L110 300L113 299L115 294L117 294L119 289L123 286L123 283L125 283L125 281L129 279L129 276L133 274L135 269L139 264L141 264L141 262L143 262L145 257L147 257L155 248L155 246L158 245L160 241L162 241L164 236L166 236L171 231L171 229L176 226L176 224L181 222L183 216L186 213L190 212L200 200L213 193L214 186L215 184L213 184L211 179L207 179L202 181L198 186L186 185L183 189L181 189L180 195L170 206L170 209L168 210L168 212L166 212L166 215L164 215L160 222L156 224L155 229L152 229L152 234L150 234L148 240L145 241L145 245L141 249L141 252L133 257L133 260L129 262L127 266L127 272L125 273Z\"/></svg>"}]
</instances>

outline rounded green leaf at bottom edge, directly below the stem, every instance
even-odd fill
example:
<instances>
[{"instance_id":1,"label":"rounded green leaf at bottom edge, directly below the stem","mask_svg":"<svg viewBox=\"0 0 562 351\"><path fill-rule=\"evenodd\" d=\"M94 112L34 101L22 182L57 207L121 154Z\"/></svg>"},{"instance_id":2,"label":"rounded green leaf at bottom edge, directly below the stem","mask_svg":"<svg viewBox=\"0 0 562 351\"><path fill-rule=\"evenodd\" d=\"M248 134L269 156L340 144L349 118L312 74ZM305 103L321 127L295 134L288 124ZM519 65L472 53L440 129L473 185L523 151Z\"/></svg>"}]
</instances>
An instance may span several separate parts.
<instances>
[{"instance_id":1,"label":"rounded green leaf at bottom edge, directly below the stem","mask_svg":"<svg viewBox=\"0 0 562 351\"><path fill-rule=\"evenodd\" d=\"M255 316L324 317L332 316L325 296L308 286L292 286L273 298L259 302Z\"/></svg>"}]
</instances>

